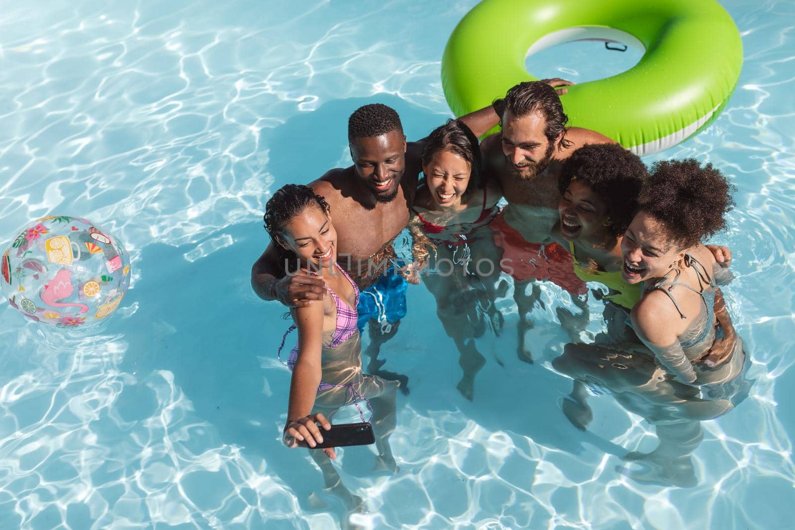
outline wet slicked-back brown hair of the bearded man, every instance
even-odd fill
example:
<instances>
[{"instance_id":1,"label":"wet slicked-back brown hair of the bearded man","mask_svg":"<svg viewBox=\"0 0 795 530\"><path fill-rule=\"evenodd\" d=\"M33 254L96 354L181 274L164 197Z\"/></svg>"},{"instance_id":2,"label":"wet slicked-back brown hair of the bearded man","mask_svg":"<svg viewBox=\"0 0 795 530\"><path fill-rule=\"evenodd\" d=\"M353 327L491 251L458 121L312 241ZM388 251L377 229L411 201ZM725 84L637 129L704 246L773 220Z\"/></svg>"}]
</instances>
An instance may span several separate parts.
<instances>
[{"instance_id":1,"label":"wet slicked-back brown hair of the bearded man","mask_svg":"<svg viewBox=\"0 0 795 530\"><path fill-rule=\"evenodd\" d=\"M563 104L555 89L543 81L525 81L511 87L505 98L495 99L494 110L497 110L502 125L502 116L506 110L522 118L528 114L541 114L546 126L544 135L550 143L554 144L560 133L560 148L570 147L571 141L566 140L566 123L568 116L563 111Z\"/></svg>"}]
</instances>

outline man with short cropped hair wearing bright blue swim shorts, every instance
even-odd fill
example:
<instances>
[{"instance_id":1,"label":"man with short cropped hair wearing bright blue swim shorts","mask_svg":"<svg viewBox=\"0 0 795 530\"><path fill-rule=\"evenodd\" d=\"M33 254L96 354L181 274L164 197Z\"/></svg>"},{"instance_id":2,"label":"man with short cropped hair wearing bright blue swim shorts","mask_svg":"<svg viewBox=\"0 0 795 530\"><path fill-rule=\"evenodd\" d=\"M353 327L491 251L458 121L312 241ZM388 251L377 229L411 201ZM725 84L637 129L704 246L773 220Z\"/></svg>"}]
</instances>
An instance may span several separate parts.
<instances>
[{"instance_id":1,"label":"man with short cropped hair wearing bright blue swim shorts","mask_svg":"<svg viewBox=\"0 0 795 530\"><path fill-rule=\"evenodd\" d=\"M460 119L480 135L498 122L491 106ZM348 145L354 164L332 169L308 186L331 206L339 265L362 290L359 328L370 323L370 373L404 380L401 389L406 389L405 377L380 370L376 358L405 315L405 280L393 269L392 242L409 223L423 144L407 143L397 113L374 103L351 114ZM303 271L282 277L277 260L271 243L251 269L251 286L260 298L288 307L323 300L327 290L322 279Z\"/></svg>"}]
</instances>

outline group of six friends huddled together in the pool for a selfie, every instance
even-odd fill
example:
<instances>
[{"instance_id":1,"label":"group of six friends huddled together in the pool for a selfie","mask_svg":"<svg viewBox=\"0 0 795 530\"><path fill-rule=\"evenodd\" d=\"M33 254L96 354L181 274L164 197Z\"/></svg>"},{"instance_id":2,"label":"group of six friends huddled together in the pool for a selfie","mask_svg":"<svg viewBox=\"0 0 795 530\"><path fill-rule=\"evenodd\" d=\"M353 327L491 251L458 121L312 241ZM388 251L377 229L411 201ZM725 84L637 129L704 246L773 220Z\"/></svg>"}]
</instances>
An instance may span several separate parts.
<instances>
[{"instance_id":1,"label":"group of six friends huddled together in the pool for a selfie","mask_svg":"<svg viewBox=\"0 0 795 530\"><path fill-rule=\"evenodd\" d=\"M747 395L743 343L719 290L731 279L731 252L706 245L726 227L733 186L712 164L647 168L610 138L567 127L559 97L566 84L519 83L415 142L405 140L393 109L362 106L348 122L354 164L269 199L271 242L251 281L293 316L282 347L297 329L285 445L315 447L331 414L355 404L363 421L370 412L378 467L397 470L389 436L408 378L382 370L378 351L405 316L406 283L422 282L435 297L460 352L458 388L472 399L485 363L475 339L502 331L494 300L512 277L525 362L533 362L525 335L542 282L571 298L575 311L556 309L571 342L552 363L574 381L563 400L568 419L587 428L588 396L607 390L657 428L657 450L634 455L651 466L650 480L695 483L689 455L700 420ZM501 132L478 140L498 124ZM401 261L393 242L407 227L412 259ZM585 342L589 296L604 304L605 326ZM310 452L326 487L347 492L331 463L335 450Z\"/></svg>"}]
</instances>

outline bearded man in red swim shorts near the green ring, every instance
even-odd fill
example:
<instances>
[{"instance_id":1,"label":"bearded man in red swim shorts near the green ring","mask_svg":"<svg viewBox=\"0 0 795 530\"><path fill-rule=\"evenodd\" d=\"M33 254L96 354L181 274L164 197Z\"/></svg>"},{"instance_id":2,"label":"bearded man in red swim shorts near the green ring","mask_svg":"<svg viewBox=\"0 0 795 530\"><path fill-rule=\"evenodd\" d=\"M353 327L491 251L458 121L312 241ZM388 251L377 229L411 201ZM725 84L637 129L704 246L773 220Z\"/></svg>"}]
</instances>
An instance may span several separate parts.
<instances>
[{"instance_id":1,"label":"bearded man in red swim shorts near the green ring","mask_svg":"<svg viewBox=\"0 0 795 530\"><path fill-rule=\"evenodd\" d=\"M494 102L494 109L500 114L502 132L481 143L482 173L487 181L500 184L508 202L491 227L495 244L503 250L501 263L510 264L504 270L515 280L517 354L522 361L533 362L525 346L525 333L533 327L529 311L541 298L541 288L533 280L552 280L571 293L580 315L562 308L556 311L570 335L577 335L583 327L580 320L588 319L588 290L576 277L568 251L551 238L558 219L561 163L582 145L614 142L592 130L567 128L560 98L546 83L519 83Z\"/></svg>"}]
</instances>

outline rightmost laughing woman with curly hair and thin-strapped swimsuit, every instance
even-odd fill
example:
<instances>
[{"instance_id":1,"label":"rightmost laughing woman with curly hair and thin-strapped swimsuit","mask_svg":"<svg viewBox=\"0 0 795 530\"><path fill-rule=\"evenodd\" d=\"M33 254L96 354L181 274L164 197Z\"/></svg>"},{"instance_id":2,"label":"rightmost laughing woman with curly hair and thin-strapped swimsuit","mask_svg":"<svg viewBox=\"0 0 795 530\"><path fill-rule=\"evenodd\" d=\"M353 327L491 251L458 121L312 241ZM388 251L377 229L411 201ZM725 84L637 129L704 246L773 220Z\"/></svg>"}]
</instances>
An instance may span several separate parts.
<instances>
[{"instance_id":1,"label":"rightmost laughing woman with curly hair and thin-strapped swimsuit","mask_svg":"<svg viewBox=\"0 0 795 530\"><path fill-rule=\"evenodd\" d=\"M743 367L739 339L727 357L696 362L723 339L715 299L718 285L728 283L731 274L703 242L726 226L732 189L712 164L658 162L622 239L624 280L647 286L632 310L634 330L685 384L730 381Z\"/></svg>"}]
</instances>

